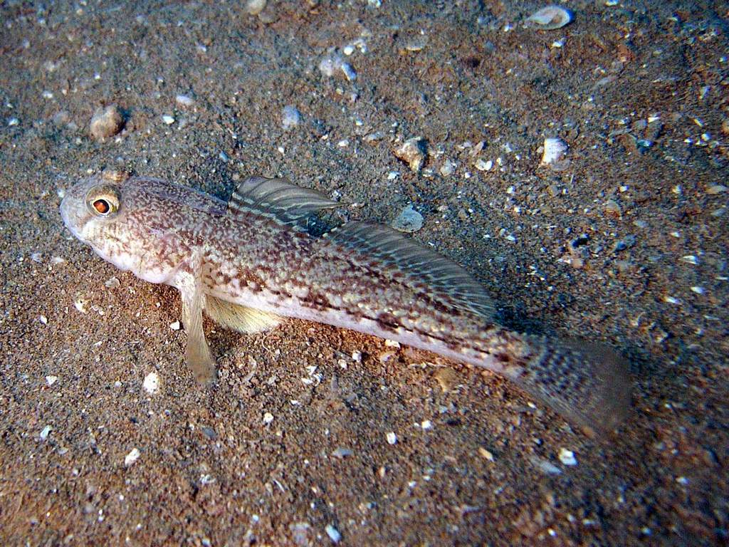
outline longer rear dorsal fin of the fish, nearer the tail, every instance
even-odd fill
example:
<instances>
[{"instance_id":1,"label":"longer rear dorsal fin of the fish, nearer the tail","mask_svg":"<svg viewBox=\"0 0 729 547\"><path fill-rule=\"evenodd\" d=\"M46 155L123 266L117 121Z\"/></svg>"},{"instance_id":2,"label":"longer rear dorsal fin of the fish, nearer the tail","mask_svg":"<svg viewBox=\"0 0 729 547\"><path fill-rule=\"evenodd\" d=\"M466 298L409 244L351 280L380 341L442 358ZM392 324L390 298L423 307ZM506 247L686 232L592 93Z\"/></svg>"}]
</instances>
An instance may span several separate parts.
<instances>
[{"instance_id":1,"label":"longer rear dorsal fin of the fish, nearer the tail","mask_svg":"<svg viewBox=\"0 0 729 547\"><path fill-rule=\"evenodd\" d=\"M396 266L410 279L423 282L435 295L447 297L460 309L489 320L494 318L496 309L486 289L467 271L402 233L370 222L347 222L323 237Z\"/></svg>"}]
</instances>

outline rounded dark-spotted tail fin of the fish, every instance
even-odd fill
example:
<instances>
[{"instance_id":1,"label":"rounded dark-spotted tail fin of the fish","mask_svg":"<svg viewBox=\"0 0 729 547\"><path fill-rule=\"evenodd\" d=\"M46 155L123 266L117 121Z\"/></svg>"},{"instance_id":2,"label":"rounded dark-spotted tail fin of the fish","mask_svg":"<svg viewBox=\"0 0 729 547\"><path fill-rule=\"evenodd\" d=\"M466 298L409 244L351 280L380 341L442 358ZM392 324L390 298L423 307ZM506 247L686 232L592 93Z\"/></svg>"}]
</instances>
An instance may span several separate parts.
<instances>
[{"instance_id":1,"label":"rounded dark-spotted tail fin of the fish","mask_svg":"<svg viewBox=\"0 0 729 547\"><path fill-rule=\"evenodd\" d=\"M507 376L530 395L588 432L612 431L630 414L627 363L612 349L537 336L524 341L531 358Z\"/></svg>"}]
</instances>

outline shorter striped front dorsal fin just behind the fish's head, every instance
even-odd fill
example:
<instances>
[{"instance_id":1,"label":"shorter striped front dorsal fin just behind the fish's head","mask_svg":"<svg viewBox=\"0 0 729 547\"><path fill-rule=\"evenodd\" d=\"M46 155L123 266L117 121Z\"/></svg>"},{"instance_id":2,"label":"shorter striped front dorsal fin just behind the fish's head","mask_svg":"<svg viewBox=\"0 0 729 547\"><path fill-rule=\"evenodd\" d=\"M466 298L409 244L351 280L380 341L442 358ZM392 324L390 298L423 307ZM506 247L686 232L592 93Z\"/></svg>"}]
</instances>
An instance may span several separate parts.
<instances>
[{"instance_id":1,"label":"shorter striped front dorsal fin just behind the fish's head","mask_svg":"<svg viewBox=\"0 0 729 547\"><path fill-rule=\"evenodd\" d=\"M332 209L340 203L326 195L296 186L286 179L251 176L238 185L228 201L230 214L260 214L281 224L297 225L321 209Z\"/></svg>"}]
</instances>

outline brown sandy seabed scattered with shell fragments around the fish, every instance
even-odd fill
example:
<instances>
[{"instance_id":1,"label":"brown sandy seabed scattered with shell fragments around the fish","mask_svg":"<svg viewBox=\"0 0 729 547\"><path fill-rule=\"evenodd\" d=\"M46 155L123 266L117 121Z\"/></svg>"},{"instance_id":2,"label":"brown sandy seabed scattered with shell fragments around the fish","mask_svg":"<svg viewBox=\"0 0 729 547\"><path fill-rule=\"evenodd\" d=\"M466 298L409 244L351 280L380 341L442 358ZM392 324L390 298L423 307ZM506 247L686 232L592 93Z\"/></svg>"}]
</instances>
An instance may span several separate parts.
<instances>
[{"instance_id":1,"label":"brown sandy seabed scattered with shell fragments around the fish","mask_svg":"<svg viewBox=\"0 0 729 547\"><path fill-rule=\"evenodd\" d=\"M729 11L564 5L545 31L534 1L2 3L2 543L725 544ZM176 291L63 228L63 190L110 168L412 206L507 325L627 357L634 414L589 438L502 379L299 321L207 325L200 389Z\"/></svg>"}]
</instances>

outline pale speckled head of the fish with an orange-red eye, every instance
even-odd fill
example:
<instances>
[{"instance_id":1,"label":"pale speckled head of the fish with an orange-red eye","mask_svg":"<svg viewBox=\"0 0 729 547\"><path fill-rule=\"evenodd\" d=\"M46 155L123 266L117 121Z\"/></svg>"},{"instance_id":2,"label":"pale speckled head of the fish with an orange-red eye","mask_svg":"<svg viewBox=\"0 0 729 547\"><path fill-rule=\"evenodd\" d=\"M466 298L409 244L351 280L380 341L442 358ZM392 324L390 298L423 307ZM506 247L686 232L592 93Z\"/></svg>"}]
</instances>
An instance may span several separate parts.
<instances>
[{"instance_id":1,"label":"pale speckled head of the fish with an orange-red eye","mask_svg":"<svg viewBox=\"0 0 729 547\"><path fill-rule=\"evenodd\" d=\"M143 177L82 180L61 201L61 217L74 236L117 268L153 283L171 282L190 257L192 223L205 212L224 214L225 203Z\"/></svg>"}]
</instances>

